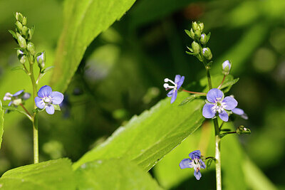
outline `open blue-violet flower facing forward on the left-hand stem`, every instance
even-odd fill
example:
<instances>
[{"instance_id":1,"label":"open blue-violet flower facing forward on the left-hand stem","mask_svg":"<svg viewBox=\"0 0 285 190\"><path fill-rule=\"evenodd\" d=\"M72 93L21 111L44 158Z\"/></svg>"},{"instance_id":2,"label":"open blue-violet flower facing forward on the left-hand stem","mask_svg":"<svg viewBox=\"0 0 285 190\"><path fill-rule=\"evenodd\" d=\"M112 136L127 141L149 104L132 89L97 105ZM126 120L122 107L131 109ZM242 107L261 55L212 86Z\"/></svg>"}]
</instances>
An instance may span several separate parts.
<instances>
[{"instance_id":1,"label":"open blue-violet flower facing forward on the left-hand stem","mask_svg":"<svg viewBox=\"0 0 285 190\"><path fill-rule=\"evenodd\" d=\"M63 94L51 90L51 87L44 85L38 90L38 96L35 97L36 107L46 109L50 115L54 113L53 105L59 105L63 101Z\"/></svg>"}]
</instances>

